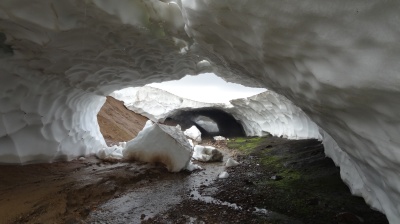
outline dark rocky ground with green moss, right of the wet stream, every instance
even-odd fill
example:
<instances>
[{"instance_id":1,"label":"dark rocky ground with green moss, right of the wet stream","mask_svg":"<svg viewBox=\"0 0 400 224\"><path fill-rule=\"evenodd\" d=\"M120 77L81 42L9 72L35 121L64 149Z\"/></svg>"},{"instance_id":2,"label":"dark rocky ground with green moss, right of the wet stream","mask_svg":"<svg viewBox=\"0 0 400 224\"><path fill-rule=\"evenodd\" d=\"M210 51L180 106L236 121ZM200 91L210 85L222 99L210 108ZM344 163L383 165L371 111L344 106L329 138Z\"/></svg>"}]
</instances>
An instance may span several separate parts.
<instances>
[{"instance_id":1,"label":"dark rocky ground with green moss, right of the wet stream","mask_svg":"<svg viewBox=\"0 0 400 224\"><path fill-rule=\"evenodd\" d=\"M239 208L189 198L147 223L388 223L351 195L316 140L238 138L228 147L241 165L200 194Z\"/></svg>"}]
</instances>

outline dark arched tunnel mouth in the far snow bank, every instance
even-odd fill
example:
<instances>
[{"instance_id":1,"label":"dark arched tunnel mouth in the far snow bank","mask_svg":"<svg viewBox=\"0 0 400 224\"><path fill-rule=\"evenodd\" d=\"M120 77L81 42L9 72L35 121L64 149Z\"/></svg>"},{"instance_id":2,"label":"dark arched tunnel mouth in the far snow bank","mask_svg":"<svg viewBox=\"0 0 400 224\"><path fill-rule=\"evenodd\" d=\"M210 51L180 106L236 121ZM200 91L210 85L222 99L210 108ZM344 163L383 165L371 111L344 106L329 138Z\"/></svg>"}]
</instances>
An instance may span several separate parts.
<instances>
[{"instance_id":1,"label":"dark arched tunnel mouth in the far snow bank","mask_svg":"<svg viewBox=\"0 0 400 224\"><path fill-rule=\"evenodd\" d=\"M231 114L216 108L178 110L165 119L165 124L179 124L183 130L196 126L202 138L224 136L244 137L246 133L240 121Z\"/></svg>"}]
</instances>

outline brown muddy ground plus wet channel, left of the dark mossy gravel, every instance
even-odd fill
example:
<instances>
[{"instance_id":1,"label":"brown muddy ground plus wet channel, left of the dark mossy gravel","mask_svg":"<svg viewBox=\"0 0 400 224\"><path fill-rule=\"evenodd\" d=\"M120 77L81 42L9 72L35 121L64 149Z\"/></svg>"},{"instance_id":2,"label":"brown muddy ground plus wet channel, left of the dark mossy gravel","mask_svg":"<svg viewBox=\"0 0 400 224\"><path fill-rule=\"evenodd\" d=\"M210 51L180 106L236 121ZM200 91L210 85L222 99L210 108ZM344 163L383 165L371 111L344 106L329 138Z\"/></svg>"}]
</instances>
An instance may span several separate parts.
<instances>
[{"instance_id":1,"label":"brown muddy ground plus wet channel, left of the dark mossy gravel","mask_svg":"<svg viewBox=\"0 0 400 224\"><path fill-rule=\"evenodd\" d=\"M0 167L0 223L140 223L212 183L223 163L169 173L140 162L95 158Z\"/></svg>"}]
</instances>

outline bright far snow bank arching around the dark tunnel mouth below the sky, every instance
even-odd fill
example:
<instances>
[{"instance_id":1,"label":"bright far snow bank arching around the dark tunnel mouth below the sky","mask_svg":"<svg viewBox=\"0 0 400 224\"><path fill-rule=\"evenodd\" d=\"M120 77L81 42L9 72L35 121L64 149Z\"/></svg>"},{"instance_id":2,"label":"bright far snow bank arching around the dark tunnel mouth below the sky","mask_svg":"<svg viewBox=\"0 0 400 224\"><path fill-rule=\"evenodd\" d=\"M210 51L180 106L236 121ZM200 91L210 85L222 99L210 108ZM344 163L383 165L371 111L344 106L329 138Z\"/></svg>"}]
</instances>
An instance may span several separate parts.
<instances>
[{"instance_id":1,"label":"bright far snow bank arching around the dark tunnel mouth below the sky","mask_svg":"<svg viewBox=\"0 0 400 224\"><path fill-rule=\"evenodd\" d=\"M111 95L123 101L128 109L157 121L164 121L179 110L213 107L232 114L248 136L270 133L289 139L321 139L318 126L300 108L272 91L231 100L228 104L201 103L147 86L127 88ZM204 122L202 124L206 126ZM212 125L208 126L212 129Z\"/></svg>"}]
</instances>

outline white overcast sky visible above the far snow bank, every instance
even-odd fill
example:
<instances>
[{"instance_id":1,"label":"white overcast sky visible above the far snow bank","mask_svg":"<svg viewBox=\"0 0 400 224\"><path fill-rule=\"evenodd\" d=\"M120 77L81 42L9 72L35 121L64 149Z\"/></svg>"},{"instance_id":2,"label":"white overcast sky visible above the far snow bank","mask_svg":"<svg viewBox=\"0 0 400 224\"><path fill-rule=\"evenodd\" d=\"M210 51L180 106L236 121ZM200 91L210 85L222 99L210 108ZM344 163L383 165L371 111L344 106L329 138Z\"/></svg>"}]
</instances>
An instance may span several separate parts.
<instances>
[{"instance_id":1,"label":"white overcast sky visible above the far snow bank","mask_svg":"<svg viewBox=\"0 0 400 224\"><path fill-rule=\"evenodd\" d=\"M183 98L206 103L226 103L232 99L253 96L266 90L228 83L212 73L185 76L180 80L152 83L148 86L166 90Z\"/></svg>"}]
</instances>

